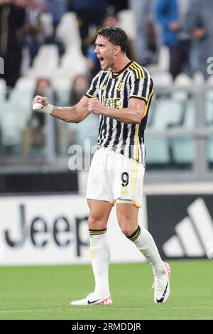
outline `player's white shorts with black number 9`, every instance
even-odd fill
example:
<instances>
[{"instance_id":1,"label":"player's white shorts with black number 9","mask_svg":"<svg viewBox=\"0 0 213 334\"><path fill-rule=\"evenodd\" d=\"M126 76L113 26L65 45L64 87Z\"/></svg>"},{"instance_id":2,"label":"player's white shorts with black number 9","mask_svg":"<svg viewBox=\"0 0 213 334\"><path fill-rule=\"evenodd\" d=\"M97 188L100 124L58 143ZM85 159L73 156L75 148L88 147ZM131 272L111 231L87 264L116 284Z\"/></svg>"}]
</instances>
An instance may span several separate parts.
<instances>
[{"instance_id":1,"label":"player's white shorts with black number 9","mask_svg":"<svg viewBox=\"0 0 213 334\"><path fill-rule=\"evenodd\" d=\"M141 208L144 166L102 147L94 153L87 181L87 199L133 203Z\"/></svg>"}]
</instances>

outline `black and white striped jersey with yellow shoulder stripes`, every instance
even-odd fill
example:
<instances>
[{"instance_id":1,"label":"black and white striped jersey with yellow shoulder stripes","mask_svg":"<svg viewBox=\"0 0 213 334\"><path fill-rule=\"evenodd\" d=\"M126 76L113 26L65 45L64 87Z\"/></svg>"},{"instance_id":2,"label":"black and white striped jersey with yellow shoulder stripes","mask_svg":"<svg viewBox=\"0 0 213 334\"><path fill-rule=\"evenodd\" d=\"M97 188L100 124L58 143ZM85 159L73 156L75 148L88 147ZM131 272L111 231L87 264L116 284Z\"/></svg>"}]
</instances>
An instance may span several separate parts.
<instances>
[{"instance_id":1,"label":"black and white striped jersey with yellow shoulder stripes","mask_svg":"<svg viewBox=\"0 0 213 334\"><path fill-rule=\"evenodd\" d=\"M129 107L131 98L146 102L141 124L125 124L100 115L97 141L97 149L105 146L145 165L144 130L153 96L153 80L148 70L133 61L120 72L101 70L85 95L97 97L104 106L115 109Z\"/></svg>"}]
</instances>

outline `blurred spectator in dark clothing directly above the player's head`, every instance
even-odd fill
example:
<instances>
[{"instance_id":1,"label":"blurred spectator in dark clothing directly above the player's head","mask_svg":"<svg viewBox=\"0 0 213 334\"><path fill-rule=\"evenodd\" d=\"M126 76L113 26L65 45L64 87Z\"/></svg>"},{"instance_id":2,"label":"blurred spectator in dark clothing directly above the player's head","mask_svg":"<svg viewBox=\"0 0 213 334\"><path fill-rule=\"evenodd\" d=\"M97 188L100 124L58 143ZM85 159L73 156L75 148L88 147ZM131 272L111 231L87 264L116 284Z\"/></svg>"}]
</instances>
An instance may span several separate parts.
<instances>
[{"instance_id":1,"label":"blurred spectator in dark clothing directly above the player's head","mask_svg":"<svg viewBox=\"0 0 213 334\"><path fill-rule=\"evenodd\" d=\"M108 0L72 0L71 9L77 14L82 39L82 53L87 55L85 40L89 36L89 28L101 28L107 11Z\"/></svg>"}]
</instances>

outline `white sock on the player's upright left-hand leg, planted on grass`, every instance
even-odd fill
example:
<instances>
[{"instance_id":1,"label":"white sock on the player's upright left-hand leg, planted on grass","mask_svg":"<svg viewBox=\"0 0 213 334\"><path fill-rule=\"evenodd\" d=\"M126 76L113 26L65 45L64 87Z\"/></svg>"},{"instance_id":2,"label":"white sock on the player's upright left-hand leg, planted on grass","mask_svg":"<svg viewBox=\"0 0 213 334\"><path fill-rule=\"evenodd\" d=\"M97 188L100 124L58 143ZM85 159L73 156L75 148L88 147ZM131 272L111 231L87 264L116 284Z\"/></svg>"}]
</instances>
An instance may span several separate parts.
<instances>
[{"instance_id":1,"label":"white sock on the player's upright left-hand leg, planted on grass","mask_svg":"<svg viewBox=\"0 0 213 334\"><path fill-rule=\"evenodd\" d=\"M106 230L89 230L92 270L95 279L94 292L109 297L110 249Z\"/></svg>"}]
</instances>

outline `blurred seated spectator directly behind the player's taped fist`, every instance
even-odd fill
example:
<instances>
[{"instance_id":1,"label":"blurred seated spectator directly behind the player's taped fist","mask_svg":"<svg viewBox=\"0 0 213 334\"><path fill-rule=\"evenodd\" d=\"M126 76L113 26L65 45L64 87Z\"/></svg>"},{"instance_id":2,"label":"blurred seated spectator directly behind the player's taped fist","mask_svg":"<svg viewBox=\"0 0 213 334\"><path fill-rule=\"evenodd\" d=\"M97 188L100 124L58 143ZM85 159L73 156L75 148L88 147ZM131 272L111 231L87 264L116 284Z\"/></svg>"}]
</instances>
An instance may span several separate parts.
<instances>
[{"instance_id":1,"label":"blurred seated spectator directly behind the player's taped fist","mask_svg":"<svg viewBox=\"0 0 213 334\"><path fill-rule=\"evenodd\" d=\"M38 79L33 96L40 95L48 97L51 104L56 103L56 94L51 86L50 80L45 77ZM23 130L23 155L28 156L32 149L40 152L45 147L45 114L32 112L28 126Z\"/></svg>"}]
</instances>

